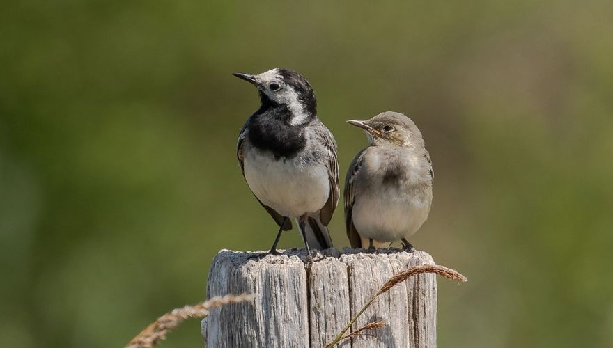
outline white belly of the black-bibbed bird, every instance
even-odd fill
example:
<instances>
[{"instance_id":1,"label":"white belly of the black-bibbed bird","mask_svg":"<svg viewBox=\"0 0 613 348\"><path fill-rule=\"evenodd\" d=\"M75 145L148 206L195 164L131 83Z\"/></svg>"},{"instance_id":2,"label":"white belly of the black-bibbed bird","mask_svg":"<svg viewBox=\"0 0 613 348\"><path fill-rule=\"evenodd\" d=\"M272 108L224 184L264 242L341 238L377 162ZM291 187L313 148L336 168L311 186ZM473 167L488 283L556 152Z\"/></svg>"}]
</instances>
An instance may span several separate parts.
<instances>
[{"instance_id":1,"label":"white belly of the black-bibbed bird","mask_svg":"<svg viewBox=\"0 0 613 348\"><path fill-rule=\"evenodd\" d=\"M265 205L282 216L297 218L318 212L329 196L327 168L302 157L275 160L254 148L245 152L245 179Z\"/></svg>"}]
</instances>

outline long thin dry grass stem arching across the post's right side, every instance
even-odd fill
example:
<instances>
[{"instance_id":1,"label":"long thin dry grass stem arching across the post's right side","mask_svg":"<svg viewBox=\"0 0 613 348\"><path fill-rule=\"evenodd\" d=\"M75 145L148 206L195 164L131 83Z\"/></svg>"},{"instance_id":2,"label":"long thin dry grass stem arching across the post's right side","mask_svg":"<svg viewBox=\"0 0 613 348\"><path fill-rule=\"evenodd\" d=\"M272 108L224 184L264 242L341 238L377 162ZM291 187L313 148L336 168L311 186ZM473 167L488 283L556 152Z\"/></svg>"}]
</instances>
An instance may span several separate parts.
<instances>
[{"instance_id":1,"label":"long thin dry grass stem arching across the post's right side","mask_svg":"<svg viewBox=\"0 0 613 348\"><path fill-rule=\"evenodd\" d=\"M343 331L341 331L338 335L336 335L334 340L330 342L329 345L326 346L326 348L332 348L334 347L334 345L341 342L341 340L345 337L344 336L345 333L351 328L351 326L355 323L357 318L359 318L359 316L362 315L362 313L364 313L366 308L368 308L369 306L371 306L371 304L373 304L375 299L377 299L377 297L380 294L384 294L385 292L388 292L392 287L402 283L403 281L407 280L411 276L416 276L417 274L422 274L422 273L435 273L435 274L438 274L439 276L443 276L444 278L452 279L452 280L460 280L461 282L466 282L468 280L465 276L458 273L458 271L454 271L453 269L449 269L444 266L439 266L437 264L424 264L424 265L417 266L417 267L411 267L410 269L405 269L404 271L399 271L398 273L394 274L394 276L391 276L391 278L389 278L387 282L385 282L385 284L383 284L383 286L379 289L379 291L375 294L375 296L373 296L371 301L368 301L368 303L366 303L366 305L364 305L364 307L362 307L362 309L359 310L357 315L351 318L351 321L349 322L349 324L347 324L347 326L345 326L345 329L343 329ZM347 337L349 337L350 335L351 334L347 335Z\"/></svg>"}]
</instances>

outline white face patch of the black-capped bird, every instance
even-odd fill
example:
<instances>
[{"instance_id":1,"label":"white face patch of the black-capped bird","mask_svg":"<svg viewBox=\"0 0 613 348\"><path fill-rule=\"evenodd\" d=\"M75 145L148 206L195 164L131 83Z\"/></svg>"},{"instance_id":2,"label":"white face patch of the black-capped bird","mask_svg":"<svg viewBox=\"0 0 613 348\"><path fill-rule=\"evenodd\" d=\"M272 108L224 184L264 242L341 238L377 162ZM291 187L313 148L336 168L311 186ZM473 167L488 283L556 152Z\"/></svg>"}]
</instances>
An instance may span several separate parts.
<instances>
[{"instance_id":1,"label":"white face patch of the black-capped bird","mask_svg":"<svg viewBox=\"0 0 613 348\"><path fill-rule=\"evenodd\" d=\"M304 106L300 100L298 100L298 93L285 84L283 77L281 77L276 68L257 75L256 80L261 84L260 90L267 95L270 100L287 105L290 111L292 111L293 118L290 120L290 125L301 125L309 119L309 114L304 111ZM281 89L272 90L270 88L272 84L279 85Z\"/></svg>"}]
</instances>

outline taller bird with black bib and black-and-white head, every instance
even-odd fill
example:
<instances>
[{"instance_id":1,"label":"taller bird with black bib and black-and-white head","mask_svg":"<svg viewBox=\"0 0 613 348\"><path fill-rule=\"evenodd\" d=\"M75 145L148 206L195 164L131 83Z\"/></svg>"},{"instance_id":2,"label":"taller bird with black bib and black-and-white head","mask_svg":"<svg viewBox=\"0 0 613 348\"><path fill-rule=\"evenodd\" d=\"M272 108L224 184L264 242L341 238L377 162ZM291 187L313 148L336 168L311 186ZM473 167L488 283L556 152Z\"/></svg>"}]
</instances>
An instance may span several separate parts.
<instances>
[{"instance_id":1,"label":"taller bird with black bib and black-and-white head","mask_svg":"<svg viewBox=\"0 0 613 348\"><path fill-rule=\"evenodd\" d=\"M332 132L317 116L309 81L287 68L233 73L256 86L260 107L240 129L236 155L258 202L279 225L268 253L278 254L281 233L294 219L311 247L332 247L327 225L339 202L339 164Z\"/></svg>"}]
</instances>

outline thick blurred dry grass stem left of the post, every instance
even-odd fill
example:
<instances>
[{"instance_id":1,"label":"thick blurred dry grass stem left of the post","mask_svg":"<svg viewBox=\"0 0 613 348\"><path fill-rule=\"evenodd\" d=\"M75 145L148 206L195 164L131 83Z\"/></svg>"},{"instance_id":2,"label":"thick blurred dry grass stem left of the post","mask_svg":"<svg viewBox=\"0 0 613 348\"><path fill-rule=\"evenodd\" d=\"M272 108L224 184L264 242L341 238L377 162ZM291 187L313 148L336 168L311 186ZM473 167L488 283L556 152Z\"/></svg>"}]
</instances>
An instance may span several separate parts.
<instances>
[{"instance_id":1,"label":"thick blurred dry grass stem left of the post","mask_svg":"<svg viewBox=\"0 0 613 348\"><path fill-rule=\"evenodd\" d=\"M251 301L252 299L253 296L248 294L240 294L238 296L217 296L194 306L176 308L170 313L166 313L162 315L162 317L157 318L155 322L147 326L147 328L141 331L136 337L132 338L125 348L151 348L160 341L166 339L166 333L172 329L176 329L185 319L205 317L209 314L211 308L221 307L228 303Z\"/></svg>"}]
</instances>

